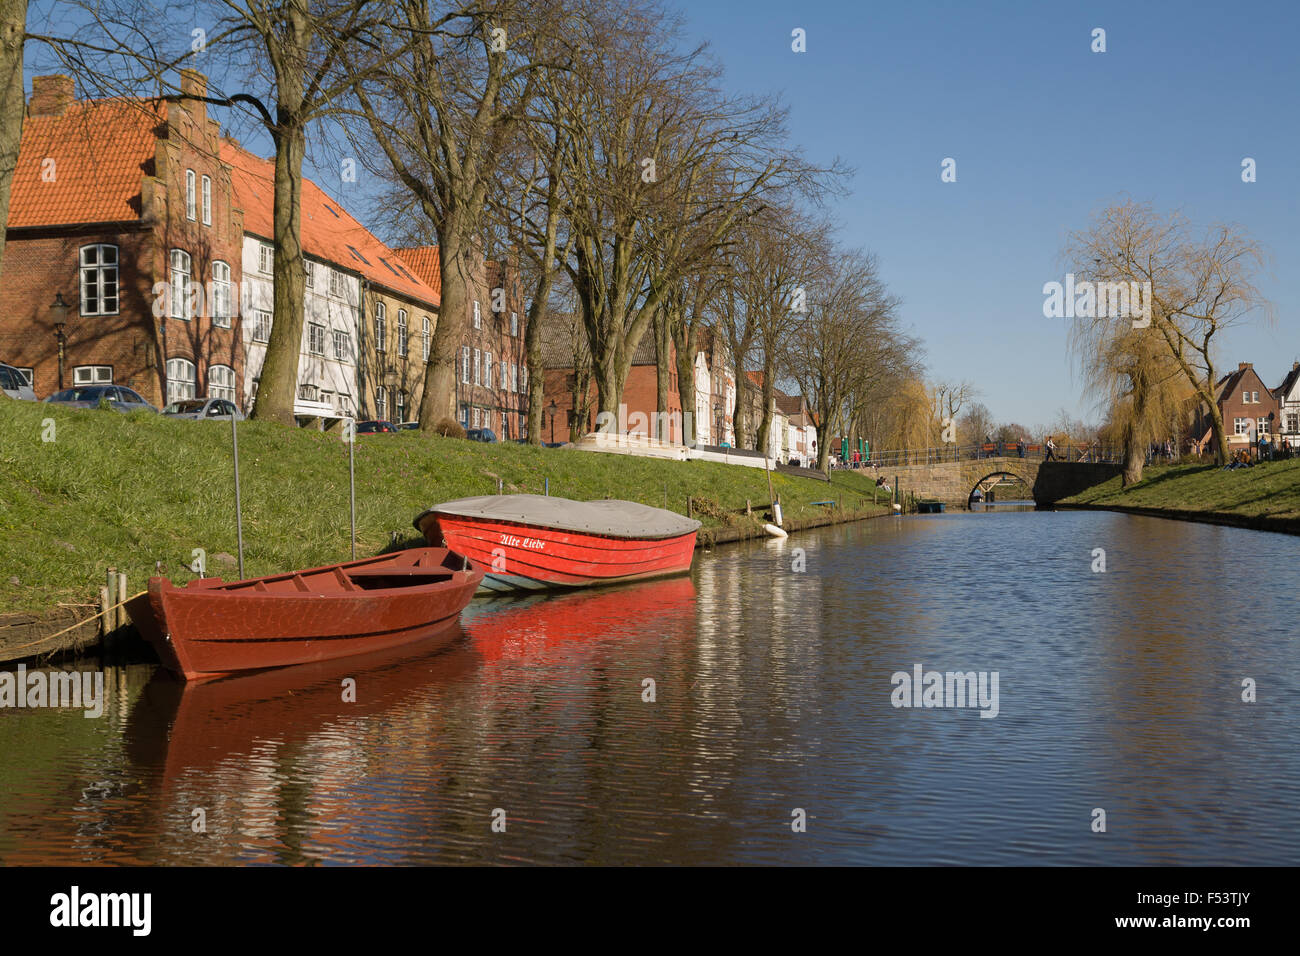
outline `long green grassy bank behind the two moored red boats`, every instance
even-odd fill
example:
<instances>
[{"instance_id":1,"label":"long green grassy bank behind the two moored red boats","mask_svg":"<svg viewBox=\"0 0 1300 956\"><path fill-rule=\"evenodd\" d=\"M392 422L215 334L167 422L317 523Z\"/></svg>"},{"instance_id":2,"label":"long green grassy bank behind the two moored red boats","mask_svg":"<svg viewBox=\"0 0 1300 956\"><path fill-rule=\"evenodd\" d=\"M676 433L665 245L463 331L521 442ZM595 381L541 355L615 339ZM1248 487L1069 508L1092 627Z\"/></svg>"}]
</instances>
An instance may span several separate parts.
<instances>
[{"instance_id":1,"label":"long green grassy bank behind the two moored red boats","mask_svg":"<svg viewBox=\"0 0 1300 956\"><path fill-rule=\"evenodd\" d=\"M53 441L43 441L44 420ZM347 446L337 432L239 427L244 571L263 575L344 561L348 549ZM664 462L625 455L480 445L419 432L359 436L358 557L374 554L391 532L416 537L411 519L451 498L504 490L566 498L627 498L685 511L708 529L750 523L724 514L745 499L767 502L758 468ZM842 498L845 511L871 505L859 475L832 484L780 473L772 486L785 515L826 514L815 501ZM126 571L143 588L156 561L173 580L192 550L208 574L235 576L230 427L174 421L147 412L79 411L0 397L0 611L40 611L57 602L92 602L104 571ZM16 583L17 581L17 583Z\"/></svg>"}]
</instances>

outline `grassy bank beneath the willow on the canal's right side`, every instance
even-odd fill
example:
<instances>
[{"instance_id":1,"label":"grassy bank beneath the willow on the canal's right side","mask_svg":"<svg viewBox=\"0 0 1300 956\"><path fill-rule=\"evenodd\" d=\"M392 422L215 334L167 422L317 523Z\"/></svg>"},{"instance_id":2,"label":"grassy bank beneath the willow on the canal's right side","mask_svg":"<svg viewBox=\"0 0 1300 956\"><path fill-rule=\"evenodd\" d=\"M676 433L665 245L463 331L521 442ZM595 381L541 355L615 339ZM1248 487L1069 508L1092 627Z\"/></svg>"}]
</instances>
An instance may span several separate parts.
<instances>
[{"instance_id":1,"label":"grassy bank beneath the willow on the canal's right side","mask_svg":"<svg viewBox=\"0 0 1300 956\"><path fill-rule=\"evenodd\" d=\"M1165 512L1294 533L1300 531L1300 459L1232 471L1213 464L1147 468L1143 480L1130 488L1121 488L1115 477L1060 503Z\"/></svg>"}]
</instances>

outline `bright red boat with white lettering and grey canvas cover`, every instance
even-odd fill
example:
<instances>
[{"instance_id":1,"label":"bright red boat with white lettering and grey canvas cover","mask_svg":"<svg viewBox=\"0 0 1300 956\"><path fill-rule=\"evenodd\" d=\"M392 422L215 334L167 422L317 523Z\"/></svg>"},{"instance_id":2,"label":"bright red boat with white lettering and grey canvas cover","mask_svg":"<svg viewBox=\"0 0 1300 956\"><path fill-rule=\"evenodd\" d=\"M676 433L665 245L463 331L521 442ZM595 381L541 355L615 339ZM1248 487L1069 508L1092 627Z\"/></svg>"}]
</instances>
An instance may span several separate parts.
<instances>
[{"instance_id":1,"label":"bright red boat with white lettering and grey canvas cover","mask_svg":"<svg viewBox=\"0 0 1300 956\"><path fill-rule=\"evenodd\" d=\"M633 501L494 494L432 507L415 527L482 564L481 591L519 592L685 574L699 522Z\"/></svg>"}]
</instances>

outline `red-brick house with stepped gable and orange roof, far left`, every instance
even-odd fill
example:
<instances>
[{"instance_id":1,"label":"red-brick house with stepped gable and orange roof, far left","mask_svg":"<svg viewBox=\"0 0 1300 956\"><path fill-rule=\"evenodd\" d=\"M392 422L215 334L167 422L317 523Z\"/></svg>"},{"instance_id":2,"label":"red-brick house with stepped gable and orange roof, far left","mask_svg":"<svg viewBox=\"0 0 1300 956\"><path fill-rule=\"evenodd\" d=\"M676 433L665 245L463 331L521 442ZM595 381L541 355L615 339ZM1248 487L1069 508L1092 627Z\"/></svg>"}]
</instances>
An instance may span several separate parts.
<instances>
[{"instance_id":1,"label":"red-brick house with stepped gable and orange roof, far left","mask_svg":"<svg viewBox=\"0 0 1300 956\"><path fill-rule=\"evenodd\" d=\"M182 70L182 95L78 100L35 77L14 170L0 274L0 360L39 397L116 382L155 405L235 398L242 215L220 125ZM64 358L51 306L68 306Z\"/></svg>"}]
</instances>

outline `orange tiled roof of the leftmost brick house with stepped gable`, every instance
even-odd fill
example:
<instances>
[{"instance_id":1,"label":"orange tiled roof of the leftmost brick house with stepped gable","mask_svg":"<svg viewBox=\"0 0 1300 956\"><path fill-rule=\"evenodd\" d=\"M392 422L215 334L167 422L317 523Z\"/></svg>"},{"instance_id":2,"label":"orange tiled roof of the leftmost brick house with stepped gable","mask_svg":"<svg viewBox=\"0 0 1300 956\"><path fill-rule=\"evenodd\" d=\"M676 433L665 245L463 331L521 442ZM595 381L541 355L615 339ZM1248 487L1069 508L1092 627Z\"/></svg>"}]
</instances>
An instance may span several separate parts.
<instances>
[{"instance_id":1,"label":"orange tiled roof of the leftmost brick house with stepped gable","mask_svg":"<svg viewBox=\"0 0 1300 956\"><path fill-rule=\"evenodd\" d=\"M79 100L61 116L29 116L8 228L139 219L164 111L159 100Z\"/></svg>"}]
</instances>

